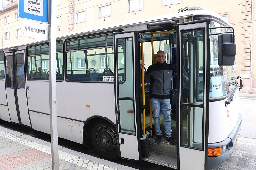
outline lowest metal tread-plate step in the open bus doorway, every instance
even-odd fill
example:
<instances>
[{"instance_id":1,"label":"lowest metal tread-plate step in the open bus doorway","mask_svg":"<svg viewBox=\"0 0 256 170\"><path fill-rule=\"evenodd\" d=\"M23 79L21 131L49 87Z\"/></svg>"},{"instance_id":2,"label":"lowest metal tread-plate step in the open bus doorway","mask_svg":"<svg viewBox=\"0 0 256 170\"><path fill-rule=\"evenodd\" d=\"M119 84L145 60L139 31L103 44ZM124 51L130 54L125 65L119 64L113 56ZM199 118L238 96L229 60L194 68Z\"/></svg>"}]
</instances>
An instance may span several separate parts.
<instances>
[{"instance_id":1,"label":"lowest metal tread-plate step in the open bus doorway","mask_svg":"<svg viewBox=\"0 0 256 170\"><path fill-rule=\"evenodd\" d=\"M155 152L149 152L148 158L143 158L144 161L151 162L154 164L167 166L173 169L177 169L177 158L172 155L159 154Z\"/></svg>"}]
</instances>

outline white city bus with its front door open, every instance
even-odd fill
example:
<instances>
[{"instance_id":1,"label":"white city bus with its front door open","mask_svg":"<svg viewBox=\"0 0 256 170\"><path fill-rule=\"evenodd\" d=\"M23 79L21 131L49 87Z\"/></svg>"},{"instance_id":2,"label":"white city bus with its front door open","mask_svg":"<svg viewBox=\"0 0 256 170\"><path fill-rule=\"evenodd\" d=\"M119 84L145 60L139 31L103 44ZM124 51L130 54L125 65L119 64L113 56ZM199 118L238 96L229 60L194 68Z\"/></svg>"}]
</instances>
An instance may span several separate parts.
<instances>
[{"instance_id":1,"label":"white city bus with its front door open","mask_svg":"<svg viewBox=\"0 0 256 170\"><path fill-rule=\"evenodd\" d=\"M177 146L154 143L150 84L141 80L141 60L147 69L158 50L177 67L170 90ZM50 133L48 41L0 51L0 118ZM233 28L199 7L59 36L58 136L94 147L104 159L217 167L234 151L241 129L235 54Z\"/></svg>"}]
</instances>

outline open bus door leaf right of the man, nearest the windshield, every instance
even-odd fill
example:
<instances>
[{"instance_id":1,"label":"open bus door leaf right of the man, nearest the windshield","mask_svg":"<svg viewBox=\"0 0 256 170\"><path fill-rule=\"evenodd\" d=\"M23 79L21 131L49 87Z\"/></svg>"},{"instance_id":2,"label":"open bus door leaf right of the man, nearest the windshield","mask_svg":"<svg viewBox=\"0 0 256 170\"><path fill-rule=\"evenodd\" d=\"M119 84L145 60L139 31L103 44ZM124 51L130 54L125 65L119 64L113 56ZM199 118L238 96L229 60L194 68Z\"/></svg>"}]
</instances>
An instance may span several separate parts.
<instances>
[{"instance_id":1,"label":"open bus door leaf right of the man, nearest the windshield","mask_svg":"<svg viewBox=\"0 0 256 170\"><path fill-rule=\"evenodd\" d=\"M178 24L179 166L207 169L209 122L209 21ZM178 37L177 37L178 39Z\"/></svg>"}]
</instances>

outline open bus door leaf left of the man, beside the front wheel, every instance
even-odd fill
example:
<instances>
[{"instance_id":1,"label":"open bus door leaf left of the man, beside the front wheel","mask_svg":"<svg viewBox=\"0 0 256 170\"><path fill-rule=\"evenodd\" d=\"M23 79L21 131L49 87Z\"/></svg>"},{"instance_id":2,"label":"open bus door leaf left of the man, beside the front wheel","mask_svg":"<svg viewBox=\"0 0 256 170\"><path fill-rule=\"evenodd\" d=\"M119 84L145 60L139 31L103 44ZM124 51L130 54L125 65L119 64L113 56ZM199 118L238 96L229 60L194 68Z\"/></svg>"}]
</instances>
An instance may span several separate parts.
<instances>
[{"instance_id":1,"label":"open bus door leaf left of the man, beside the front wheel","mask_svg":"<svg viewBox=\"0 0 256 170\"><path fill-rule=\"evenodd\" d=\"M115 49L115 101L116 101L116 126L122 158L139 161L140 126L138 75L135 68L137 51L137 32L114 33ZM138 129L139 128L139 129ZM138 134L139 132L139 134Z\"/></svg>"}]
</instances>

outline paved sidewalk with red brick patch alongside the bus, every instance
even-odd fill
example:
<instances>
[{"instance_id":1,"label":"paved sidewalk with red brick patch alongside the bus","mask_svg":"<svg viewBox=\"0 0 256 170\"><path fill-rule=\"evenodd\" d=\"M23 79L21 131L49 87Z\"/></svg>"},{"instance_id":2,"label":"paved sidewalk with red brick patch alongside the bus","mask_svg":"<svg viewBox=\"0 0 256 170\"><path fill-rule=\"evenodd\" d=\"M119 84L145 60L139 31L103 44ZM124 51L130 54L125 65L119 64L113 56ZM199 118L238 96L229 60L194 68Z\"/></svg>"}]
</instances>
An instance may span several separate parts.
<instances>
[{"instance_id":1,"label":"paved sidewalk with red brick patch alongside the bus","mask_svg":"<svg viewBox=\"0 0 256 170\"><path fill-rule=\"evenodd\" d=\"M135 170L59 146L60 170ZM0 126L0 170L51 170L51 143Z\"/></svg>"}]
</instances>

